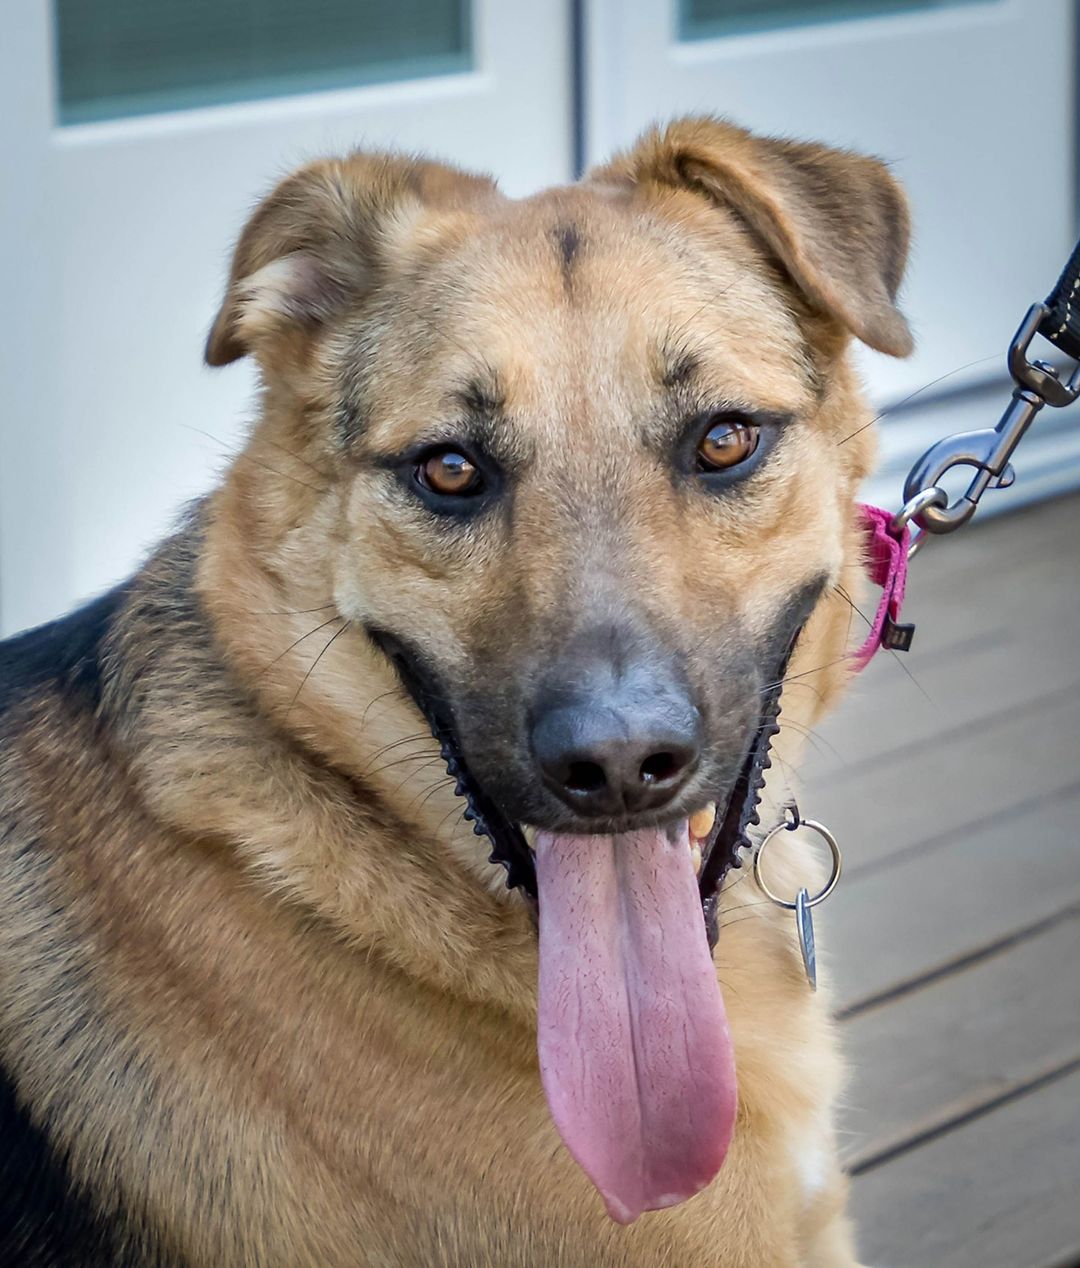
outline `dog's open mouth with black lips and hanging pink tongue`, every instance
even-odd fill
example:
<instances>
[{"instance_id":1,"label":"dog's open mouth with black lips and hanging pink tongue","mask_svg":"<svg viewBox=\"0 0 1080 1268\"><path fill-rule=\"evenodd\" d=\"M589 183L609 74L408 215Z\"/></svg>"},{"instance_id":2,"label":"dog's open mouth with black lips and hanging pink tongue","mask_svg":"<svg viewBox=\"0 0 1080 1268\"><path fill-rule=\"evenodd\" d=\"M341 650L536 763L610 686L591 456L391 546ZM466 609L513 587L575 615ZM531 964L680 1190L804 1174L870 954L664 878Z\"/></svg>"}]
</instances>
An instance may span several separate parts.
<instances>
[{"instance_id":1,"label":"dog's open mouth with black lips and hanging pink tongue","mask_svg":"<svg viewBox=\"0 0 1080 1268\"><path fill-rule=\"evenodd\" d=\"M693 1197L723 1165L735 1122L712 964L717 900L758 823L790 649L725 795L674 822L601 834L507 818L469 772L420 661L392 635L371 637L431 725L491 861L537 917L540 1073L563 1141L620 1224Z\"/></svg>"}]
</instances>

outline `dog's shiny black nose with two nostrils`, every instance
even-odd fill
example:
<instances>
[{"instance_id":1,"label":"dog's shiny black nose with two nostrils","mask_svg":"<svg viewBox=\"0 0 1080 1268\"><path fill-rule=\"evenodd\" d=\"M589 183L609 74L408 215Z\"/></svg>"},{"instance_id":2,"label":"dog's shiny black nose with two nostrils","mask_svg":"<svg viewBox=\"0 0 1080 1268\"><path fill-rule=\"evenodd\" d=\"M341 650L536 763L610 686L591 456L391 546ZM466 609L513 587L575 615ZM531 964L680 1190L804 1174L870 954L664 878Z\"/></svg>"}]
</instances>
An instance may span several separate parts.
<instances>
[{"instance_id":1,"label":"dog's shiny black nose with two nostrils","mask_svg":"<svg viewBox=\"0 0 1080 1268\"><path fill-rule=\"evenodd\" d=\"M541 691L532 719L544 784L581 815L660 809L697 767L701 715L648 662L578 663L573 686Z\"/></svg>"}]
</instances>

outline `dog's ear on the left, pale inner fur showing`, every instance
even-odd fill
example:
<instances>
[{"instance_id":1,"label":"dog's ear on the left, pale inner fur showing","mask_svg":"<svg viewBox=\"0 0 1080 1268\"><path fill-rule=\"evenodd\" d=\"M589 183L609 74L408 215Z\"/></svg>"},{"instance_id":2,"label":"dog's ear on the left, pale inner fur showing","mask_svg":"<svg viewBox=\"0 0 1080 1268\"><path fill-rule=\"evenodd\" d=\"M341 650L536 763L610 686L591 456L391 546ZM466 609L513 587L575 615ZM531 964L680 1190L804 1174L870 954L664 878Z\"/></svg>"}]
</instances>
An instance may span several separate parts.
<instances>
[{"instance_id":1,"label":"dog's ear on the left, pale inner fur showing","mask_svg":"<svg viewBox=\"0 0 1080 1268\"><path fill-rule=\"evenodd\" d=\"M240 236L207 363L227 365L361 302L432 212L494 193L485 176L394 155L325 158L293 172Z\"/></svg>"}]
</instances>

